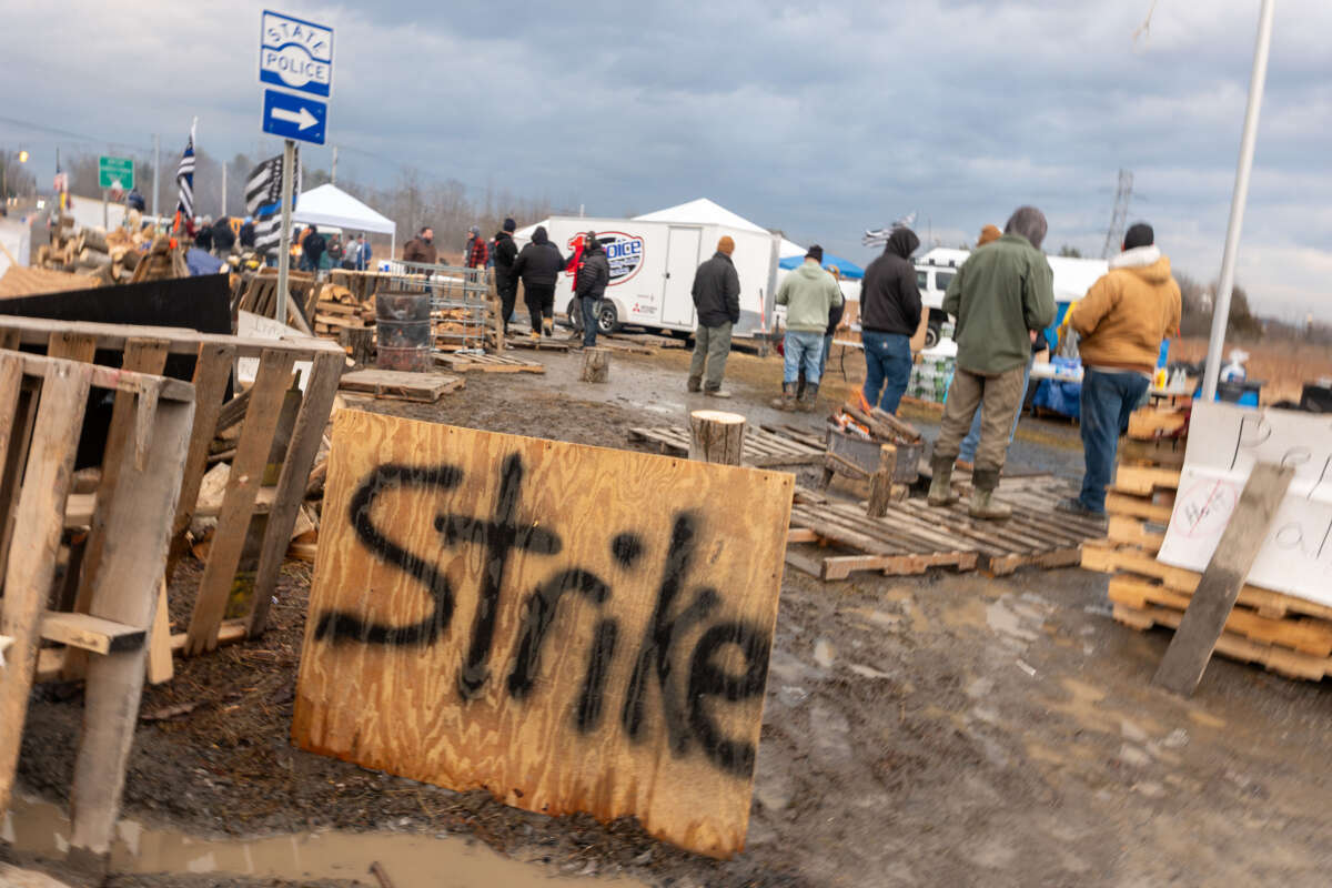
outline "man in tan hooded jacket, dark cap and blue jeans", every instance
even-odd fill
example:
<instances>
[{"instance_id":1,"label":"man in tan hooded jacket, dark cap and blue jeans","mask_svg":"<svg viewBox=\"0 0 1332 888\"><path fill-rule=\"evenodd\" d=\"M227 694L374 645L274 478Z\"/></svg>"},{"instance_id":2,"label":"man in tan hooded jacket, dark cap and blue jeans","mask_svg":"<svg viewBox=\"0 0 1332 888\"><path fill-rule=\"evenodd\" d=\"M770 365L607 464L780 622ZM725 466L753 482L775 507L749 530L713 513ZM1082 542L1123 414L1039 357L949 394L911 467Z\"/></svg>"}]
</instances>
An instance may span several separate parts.
<instances>
[{"instance_id":1,"label":"man in tan hooded jacket, dark cap and blue jeans","mask_svg":"<svg viewBox=\"0 0 1332 888\"><path fill-rule=\"evenodd\" d=\"M1087 471L1082 494L1060 511L1104 517L1106 486L1115 473L1119 435L1147 393L1162 339L1179 333L1179 284L1169 260L1154 245L1152 226L1138 222L1124 236L1124 252L1068 313L1082 341L1082 438Z\"/></svg>"}]
</instances>

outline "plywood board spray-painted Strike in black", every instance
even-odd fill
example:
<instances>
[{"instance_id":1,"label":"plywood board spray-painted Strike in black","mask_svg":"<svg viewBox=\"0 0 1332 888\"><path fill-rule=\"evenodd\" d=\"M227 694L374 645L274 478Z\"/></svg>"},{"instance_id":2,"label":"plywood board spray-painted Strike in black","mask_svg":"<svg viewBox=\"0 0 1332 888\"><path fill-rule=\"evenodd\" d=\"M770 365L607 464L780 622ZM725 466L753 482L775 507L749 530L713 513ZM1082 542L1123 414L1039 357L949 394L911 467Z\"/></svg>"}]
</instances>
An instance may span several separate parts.
<instances>
[{"instance_id":1,"label":"plywood board spray-painted Strike in black","mask_svg":"<svg viewBox=\"0 0 1332 888\"><path fill-rule=\"evenodd\" d=\"M742 849L793 489L338 413L296 743Z\"/></svg>"}]
</instances>

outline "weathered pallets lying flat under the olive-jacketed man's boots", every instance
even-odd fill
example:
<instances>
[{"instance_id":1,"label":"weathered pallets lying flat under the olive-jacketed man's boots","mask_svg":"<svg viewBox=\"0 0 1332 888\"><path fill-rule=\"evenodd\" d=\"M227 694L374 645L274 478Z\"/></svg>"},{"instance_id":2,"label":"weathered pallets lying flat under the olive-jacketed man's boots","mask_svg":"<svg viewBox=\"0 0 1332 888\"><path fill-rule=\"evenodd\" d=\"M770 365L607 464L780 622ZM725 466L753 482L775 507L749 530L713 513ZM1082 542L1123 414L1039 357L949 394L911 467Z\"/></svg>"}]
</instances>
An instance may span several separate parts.
<instances>
[{"instance_id":1,"label":"weathered pallets lying flat under the olive-jacketed man's boots","mask_svg":"<svg viewBox=\"0 0 1332 888\"><path fill-rule=\"evenodd\" d=\"M787 550L787 562L821 579L844 579L860 570L903 575L954 567L1004 575L1019 567L1067 567L1079 563L1087 541L1104 533L1099 522L1051 511L1051 503L1068 493L1050 475L1004 479L995 498L1014 515L986 522L967 515L964 503L935 509L923 499L888 503L882 518L870 518L860 506L801 490L789 538L797 547ZM838 551L813 554L802 543Z\"/></svg>"}]
</instances>

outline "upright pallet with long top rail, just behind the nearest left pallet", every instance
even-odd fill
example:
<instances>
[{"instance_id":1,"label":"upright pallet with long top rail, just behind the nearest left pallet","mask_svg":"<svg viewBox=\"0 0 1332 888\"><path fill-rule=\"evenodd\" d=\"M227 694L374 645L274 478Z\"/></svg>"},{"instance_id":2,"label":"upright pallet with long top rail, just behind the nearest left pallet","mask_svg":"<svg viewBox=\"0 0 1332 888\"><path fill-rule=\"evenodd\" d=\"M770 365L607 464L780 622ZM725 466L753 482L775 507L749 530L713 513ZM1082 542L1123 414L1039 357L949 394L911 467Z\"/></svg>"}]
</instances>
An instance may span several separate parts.
<instances>
[{"instance_id":1,"label":"upright pallet with long top rail, just behind the nearest left pallet","mask_svg":"<svg viewBox=\"0 0 1332 888\"><path fill-rule=\"evenodd\" d=\"M16 349L20 345L47 347L57 357L88 361L95 354L111 353L120 355L124 369L140 373L152 371L152 367L160 371L168 354L194 358L197 411L180 482L180 503L174 509L168 580L174 564L189 549L186 531L194 517L213 438L220 429L238 427L238 434L189 628L172 643L186 655L197 655L214 650L220 640L262 632L305 485L337 394L346 359L342 349L325 339L252 339L180 328L0 317L0 347ZM246 391L224 403L237 359L257 363L256 379ZM297 393L298 410L284 414L284 403L292 398L289 390L297 361L309 362L308 378L304 393ZM286 427L282 427L284 417ZM280 431L281 439L288 443L285 453L277 449L274 457L274 441L280 439ZM265 475L270 475L270 487L264 486ZM268 518L261 541L256 538L257 566L252 575L246 571L242 578L250 588L246 614L224 619L250 535L252 518L262 514Z\"/></svg>"}]
</instances>

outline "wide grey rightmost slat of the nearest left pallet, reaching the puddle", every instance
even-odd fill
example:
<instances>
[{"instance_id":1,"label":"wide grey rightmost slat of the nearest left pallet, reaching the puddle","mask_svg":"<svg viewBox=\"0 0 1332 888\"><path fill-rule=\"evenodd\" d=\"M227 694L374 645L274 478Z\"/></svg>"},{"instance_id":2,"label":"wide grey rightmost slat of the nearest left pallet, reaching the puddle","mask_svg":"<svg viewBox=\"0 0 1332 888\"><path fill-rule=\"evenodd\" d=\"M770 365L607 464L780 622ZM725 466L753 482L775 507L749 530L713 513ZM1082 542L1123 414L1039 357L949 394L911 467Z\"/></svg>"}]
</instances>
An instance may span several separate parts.
<instances>
[{"instance_id":1,"label":"wide grey rightmost slat of the nearest left pallet, reaching the puddle","mask_svg":"<svg viewBox=\"0 0 1332 888\"><path fill-rule=\"evenodd\" d=\"M193 419L193 402L161 402L143 463L131 447L121 450L120 483L107 514L112 533L93 578L93 616L144 632L152 627ZM103 466L104 474L111 470ZM88 660L83 739L69 793L76 853L103 859L111 852L147 660L143 646Z\"/></svg>"}]
</instances>

